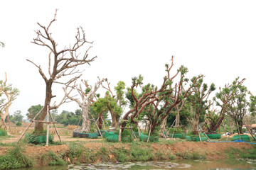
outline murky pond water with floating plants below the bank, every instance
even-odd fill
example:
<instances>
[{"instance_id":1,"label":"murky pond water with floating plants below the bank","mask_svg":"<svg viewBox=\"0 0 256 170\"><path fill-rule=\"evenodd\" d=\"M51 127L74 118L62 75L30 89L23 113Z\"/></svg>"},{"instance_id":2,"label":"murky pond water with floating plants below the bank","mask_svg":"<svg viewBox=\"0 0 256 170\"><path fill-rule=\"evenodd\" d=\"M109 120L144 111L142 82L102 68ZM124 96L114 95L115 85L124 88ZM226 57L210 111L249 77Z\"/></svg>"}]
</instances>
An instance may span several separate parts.
<instances>
[{"instance_id":1,"label":"murky pond water with floating plants below the bank","mask_svg":"<svg viewBox=\"0 0 256 170\"><path fill-rule=\"evenodd\" d=\"M171 170L256 170L256 160L221 159L221 160L174 160L171 162L107 162L67 166L46 166L22 170L78 170L78 169L171 169ZM21 169L20 169L21 170Z\"/></svg>"}]
</instances>

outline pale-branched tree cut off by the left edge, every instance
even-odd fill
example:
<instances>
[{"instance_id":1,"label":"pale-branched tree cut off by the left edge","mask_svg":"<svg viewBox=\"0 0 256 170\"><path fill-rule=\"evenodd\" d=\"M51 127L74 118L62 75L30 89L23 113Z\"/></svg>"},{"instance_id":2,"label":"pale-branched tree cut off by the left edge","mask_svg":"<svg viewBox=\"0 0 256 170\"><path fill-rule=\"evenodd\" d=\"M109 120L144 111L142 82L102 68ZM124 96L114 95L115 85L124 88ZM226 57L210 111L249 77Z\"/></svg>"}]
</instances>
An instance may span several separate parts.
<instances>
[{"instance_id":1,"label":"pale-branched tree cut off by the left edge","mask_svg":"<svg viewBox=\"0 0 256 170\"><path fill-rule=\"evenodd\" d=\"M13 88L11 84L7 84L7 74L5 74L5 80L0 80L0 127L6 126L6 117L9 115L9 108L12 102L19 94L18 89Z\"/></svg>"}]
</instances>

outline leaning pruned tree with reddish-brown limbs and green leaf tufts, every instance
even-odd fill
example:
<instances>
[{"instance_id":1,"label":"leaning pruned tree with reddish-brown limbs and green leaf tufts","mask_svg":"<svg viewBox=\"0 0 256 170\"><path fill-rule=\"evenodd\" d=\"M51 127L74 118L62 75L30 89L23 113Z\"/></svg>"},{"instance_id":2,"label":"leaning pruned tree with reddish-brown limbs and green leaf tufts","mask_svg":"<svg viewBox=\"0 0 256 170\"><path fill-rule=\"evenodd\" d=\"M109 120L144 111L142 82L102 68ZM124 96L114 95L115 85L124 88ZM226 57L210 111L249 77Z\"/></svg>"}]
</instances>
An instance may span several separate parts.
<instances>
[{"instance_id":1,"label":"leaning pruned tree with reddish-brown limbs and green leaf tufts","mask_svg":"<svg viewBox=\"0 0 256 170\"><path fill-rule=\"evenodd\" d=\"M193 93L191 88L196 85L197 80L202 76L198 76L194 79L193 83L188 86L188 89L182 92L182 84L188 81L188 79L185 78L185 74L188 72L188 69L181 66L177 70L176 74L171 77L171 68L174 66L173 57L171 61L171 66L169 66L169 64L166 64L165 66L167 76L164 77L164 81L161 84L160 89L158 89L157 86L147 84L142 87L144 92L138 98L138 96L134 94L134 88L142 86L143 77L139 76L132 79L131 93L134 106L124 115L123 120L129 119L131 123L137 123L139 116L144 111L149 118L149 129L151 132L154 132L155 128L162 123L162 121L171 113L173 108L178 103L181 103L183 98L187 98ZM180 75L178 82L174 84L174 79L178 77L178 75ZM123 126L125 123L122 123L121 125Z\"/></svg>"}]
</instances>

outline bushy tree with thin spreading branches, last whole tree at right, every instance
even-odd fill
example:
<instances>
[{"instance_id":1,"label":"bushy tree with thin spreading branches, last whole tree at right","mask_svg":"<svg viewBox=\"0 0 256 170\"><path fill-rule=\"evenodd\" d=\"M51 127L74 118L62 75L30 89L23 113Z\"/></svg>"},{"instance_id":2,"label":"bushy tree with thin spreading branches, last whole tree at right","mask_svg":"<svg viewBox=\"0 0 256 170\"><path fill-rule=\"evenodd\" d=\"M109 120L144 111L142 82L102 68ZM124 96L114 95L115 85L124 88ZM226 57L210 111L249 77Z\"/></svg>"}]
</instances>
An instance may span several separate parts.
<instances>
[{"instance_id":1,"label":"bushy tree with thin spreading branches, last whole tree at right","mask_svg":"<svg viewBox=\"0 0 256 170\"><path fill-rule=\"evenodd\" d=\"M216 94L216 98L220 100L217 105L221 106L225 113L233 118L235 125L238 125L240 133L243 133L242 119L247 114L247 107L250 106L250 102L248 102L246 98L247 88L242 85L245 79L241 81L238 79L239 77L233 81L233 84L228 84L225 88L221 89L220 92Z\"/></svg>"}]
</instances>

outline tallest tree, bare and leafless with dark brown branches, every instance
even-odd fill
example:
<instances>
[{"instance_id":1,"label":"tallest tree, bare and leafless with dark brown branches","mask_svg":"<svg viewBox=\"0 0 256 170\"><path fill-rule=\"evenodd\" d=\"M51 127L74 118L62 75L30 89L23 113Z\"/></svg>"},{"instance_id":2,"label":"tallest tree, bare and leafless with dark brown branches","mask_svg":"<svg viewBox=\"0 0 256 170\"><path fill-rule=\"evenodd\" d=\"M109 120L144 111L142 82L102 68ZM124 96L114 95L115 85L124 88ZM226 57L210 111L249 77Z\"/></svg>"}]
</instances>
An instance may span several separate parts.
<instances>
[{"instance_id":1,"label":"tallest tree, bare and leafless with dark brown branches","mask_svg":"<svg viewBox=\"0 0 256 170\"><path fill-rule=\"evenodd\" d=\"M38 68L41 77L46 83L46 98L43 106L44 108L38 120L43 120L46 117L47 108L49 108L49 110L56 109L65 103L67 99L66 96L64 96L58 104L54 103L53 106L50 106L50 102L55 97L52 91L53 84L67 85L70 81L61 80L63 77L74 77L75 74L80 73L78 69L79 66L83 64L90 64L90 62L95 60L95 57L90 59L88 58L88 51L90 50L91 46L85 47L85 45L91 44L92 42L88 42L85 39L85 30L83 30L82 27L78 28L78 33L75 36L75 42L73 45L64 47L63 50L57 50L58 43L55 42L52 33L50 33L50 26L52 26L52 24L56 21L56 14L57 10L55 11L53 20L50 21L47 27L38 23L40 29L36 30L37 36L36 38L33 38L32 41L32 43L46 47L49 50L48 72L43 72L40 65L28 60L28 62L31 62ZM48 76L46 73L48 73ZM36 123L35 132L41 133L42 131L43 123Z\"/></svg>"}]
</instances>

